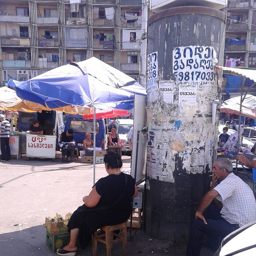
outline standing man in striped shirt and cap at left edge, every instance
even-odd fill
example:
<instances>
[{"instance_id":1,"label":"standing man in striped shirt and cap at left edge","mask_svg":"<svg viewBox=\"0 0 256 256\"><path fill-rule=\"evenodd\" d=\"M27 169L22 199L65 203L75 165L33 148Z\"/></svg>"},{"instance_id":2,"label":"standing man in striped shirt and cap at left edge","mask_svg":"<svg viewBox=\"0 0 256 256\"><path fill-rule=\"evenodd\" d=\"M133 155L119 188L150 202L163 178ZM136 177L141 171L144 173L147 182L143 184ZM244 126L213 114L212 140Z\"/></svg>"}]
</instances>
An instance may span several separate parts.
<instances>
[{"instance_id":1,"label":"standing man in striped shirt and cap at left edge","mask_svg":"<svg viewBox=\"0 0 256 256\"><path fill-rule=\"evenodd\" d=\"M8 120L5 119L3 114L0 114L0 121L1 121L0 148L2 152L1 162L5 162L5 161L11 160L11 150L9 145L11 124Z\"/></svg>"}]
</instances>

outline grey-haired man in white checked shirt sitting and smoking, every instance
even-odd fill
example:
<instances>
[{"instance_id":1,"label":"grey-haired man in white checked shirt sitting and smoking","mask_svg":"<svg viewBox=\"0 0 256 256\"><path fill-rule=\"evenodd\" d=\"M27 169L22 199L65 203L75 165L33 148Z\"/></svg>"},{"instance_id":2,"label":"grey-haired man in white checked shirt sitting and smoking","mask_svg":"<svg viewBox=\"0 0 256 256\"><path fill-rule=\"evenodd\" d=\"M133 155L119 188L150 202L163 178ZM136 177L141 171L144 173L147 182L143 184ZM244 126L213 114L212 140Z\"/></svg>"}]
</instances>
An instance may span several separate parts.
<instances>
[{"instance_id":1,"label":"grey-haired man in white checked shirt sitting and smoking","mask_svg":"<svg viewBox=\"0 0 256 256\"><path fill-rule=\"evenodd\" d=\"M199 256L204 236L212 250L220 239L239 227L256 220L256 202L250 187L233 173L229 159L218 159L212 169L211 190L204 196L190 227L187 256ZM220 184L218 184L220 180ZM214 201L215 205L210 205ZM208 212L204 211L207 209ZM204 214L208 216L204 218Z\"/></svg>"}]
</instances>

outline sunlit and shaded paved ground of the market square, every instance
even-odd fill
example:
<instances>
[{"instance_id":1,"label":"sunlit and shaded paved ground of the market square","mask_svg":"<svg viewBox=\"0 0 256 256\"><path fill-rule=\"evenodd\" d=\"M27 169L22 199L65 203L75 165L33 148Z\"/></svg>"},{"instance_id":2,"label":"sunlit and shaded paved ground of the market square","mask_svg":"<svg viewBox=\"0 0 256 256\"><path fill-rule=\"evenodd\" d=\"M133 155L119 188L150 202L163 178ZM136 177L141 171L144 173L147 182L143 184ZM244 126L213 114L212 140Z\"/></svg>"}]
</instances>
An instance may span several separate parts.
<instances>
[{"instance_id":1,"label":"sunlit and shaded paved ground of the market square","mask_svg":"<svg viewBox=\"0 0 256 256\"><path fill-rule=\"evenodd\" d=\"M130 157L123 157L123 168L130 167ZM0 162L0 256L54 255L46 247L45 217L74 212L92 188L92 164L62 163L60 160L25 158ZM106 176L103 164L96 165L96 181ZM129 232L129 231L128 231ZM143 230L132 229L127 245L128 256L185 255L186 246L172 246L156 240ZM78 249L77 255L92 255L92 248ZM105 247L98 246L98 255ZM122 255L119 244L112 256ZM203 250L202 255L212 256Z\"/></svg>"}]
</instances>

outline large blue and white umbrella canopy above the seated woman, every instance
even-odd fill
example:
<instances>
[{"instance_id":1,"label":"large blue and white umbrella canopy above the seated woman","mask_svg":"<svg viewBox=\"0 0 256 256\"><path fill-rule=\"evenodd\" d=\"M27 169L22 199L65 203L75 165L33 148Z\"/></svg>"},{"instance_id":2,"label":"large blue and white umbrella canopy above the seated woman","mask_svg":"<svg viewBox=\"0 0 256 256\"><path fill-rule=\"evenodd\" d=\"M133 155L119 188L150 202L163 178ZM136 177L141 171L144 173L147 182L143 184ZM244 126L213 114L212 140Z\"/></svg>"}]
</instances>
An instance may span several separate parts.
<instances>
[{"instance_id":1,"label":"large blue and white umbrella canopy above the seated woman","mask_svg":"<svg viewBox=\"0 0 256 256\"><path fill-rule=\"evenodd\" d=\"M146 89L130 76L92 57L54 68L28 81L10 80L17 95L49 108L67 105L132 109L134 94Z\"/></svg>"}]
</instances>

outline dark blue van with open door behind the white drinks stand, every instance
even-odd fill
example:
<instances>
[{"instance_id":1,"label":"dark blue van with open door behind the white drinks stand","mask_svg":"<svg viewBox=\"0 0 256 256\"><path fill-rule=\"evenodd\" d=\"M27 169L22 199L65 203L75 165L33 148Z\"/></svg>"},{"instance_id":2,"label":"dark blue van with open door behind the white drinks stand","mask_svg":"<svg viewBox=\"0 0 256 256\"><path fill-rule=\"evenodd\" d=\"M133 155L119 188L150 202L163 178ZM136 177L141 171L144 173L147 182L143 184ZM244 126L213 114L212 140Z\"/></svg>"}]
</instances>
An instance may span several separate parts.
<instances>
[{"instance_id":1,"label":"dark blue van with open door behind the white drinks stand","mask_svg":"<svg viewBox=\"0 0 256 256\"><path fill-rule=\"evenodd\" d=\"M19 132L26 132L29 130L30 124L33 123L34 120L38 120L39 124L43 128L44 135L52 135L53 129L55 127L56 120L56 111L46 111L42 110L42 112L19 112L18 121L17 121L17 129ZM63 113L58 112L57 118L57 131L58 140L60 134L64 131L64 118Z\"/></svg>"}]
</instances>

